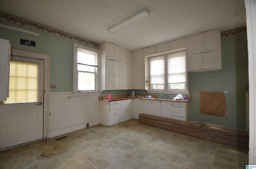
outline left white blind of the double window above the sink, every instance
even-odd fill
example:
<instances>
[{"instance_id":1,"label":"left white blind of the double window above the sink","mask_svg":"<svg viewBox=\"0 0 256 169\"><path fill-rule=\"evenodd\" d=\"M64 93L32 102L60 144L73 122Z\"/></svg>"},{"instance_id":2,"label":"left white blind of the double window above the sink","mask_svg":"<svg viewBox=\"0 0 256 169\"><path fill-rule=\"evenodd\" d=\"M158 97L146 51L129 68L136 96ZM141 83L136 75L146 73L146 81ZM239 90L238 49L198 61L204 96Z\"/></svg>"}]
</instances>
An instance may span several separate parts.
<instances>
[{"instance_id":1,"label":"left white blind of the double window above the sink","mask_svg":"<svg viewBox=\"0 0 256 169\"><path fill-rule=\"evenodd\" d=\"M150 83L164 84L164 56L150 57Z\"/></svg>"}]
</instances>

